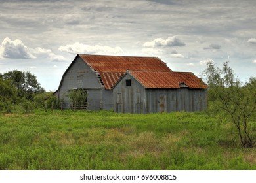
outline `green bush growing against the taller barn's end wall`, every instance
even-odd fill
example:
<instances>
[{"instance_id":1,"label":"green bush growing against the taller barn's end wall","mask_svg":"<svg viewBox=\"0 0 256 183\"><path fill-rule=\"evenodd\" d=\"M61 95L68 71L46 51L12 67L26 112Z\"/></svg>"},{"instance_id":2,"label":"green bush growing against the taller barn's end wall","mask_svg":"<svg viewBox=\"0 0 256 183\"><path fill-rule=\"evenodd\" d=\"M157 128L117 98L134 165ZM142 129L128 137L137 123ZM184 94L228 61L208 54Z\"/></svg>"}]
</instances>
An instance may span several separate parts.
<instances>
[{"instance_id":1,"label":"green bush growing against the taller barn's end wall","mask_svg":"<svg viewBox=\"0 0 256 183\"><path fill-rule=\"evenodd\" d=\"M87 103L87 92L84 89L70 90L67 97L70 98L75 110L82 109Z\"/></svg>"}]
</instances>

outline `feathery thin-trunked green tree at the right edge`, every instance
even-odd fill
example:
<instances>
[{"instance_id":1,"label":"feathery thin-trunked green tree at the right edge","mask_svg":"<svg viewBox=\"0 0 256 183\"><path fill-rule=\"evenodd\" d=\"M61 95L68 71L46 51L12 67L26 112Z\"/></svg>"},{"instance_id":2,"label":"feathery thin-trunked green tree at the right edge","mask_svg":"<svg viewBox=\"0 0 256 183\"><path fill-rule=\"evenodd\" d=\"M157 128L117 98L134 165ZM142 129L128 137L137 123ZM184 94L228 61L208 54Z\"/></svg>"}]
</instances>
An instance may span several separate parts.
<instances>
[{"instance_id":1,"label":"feathery thin-trunked green tree at the right edge","mask_svg":"<svg viewBox=\"0 0 256 183\"><path fill-rule=\"evenodd\" d=\"M225 114L238 131L240 142L244 148L251 148L256 144L255 131L251 123L255 120L256 111L256 79L250 78L244 86L238 78L234 78L234 71L228 66L228 61L219 69L213 61L207 63L203 71L209 86L208 97L215 112Z\"/></svg>"}]
</instances>

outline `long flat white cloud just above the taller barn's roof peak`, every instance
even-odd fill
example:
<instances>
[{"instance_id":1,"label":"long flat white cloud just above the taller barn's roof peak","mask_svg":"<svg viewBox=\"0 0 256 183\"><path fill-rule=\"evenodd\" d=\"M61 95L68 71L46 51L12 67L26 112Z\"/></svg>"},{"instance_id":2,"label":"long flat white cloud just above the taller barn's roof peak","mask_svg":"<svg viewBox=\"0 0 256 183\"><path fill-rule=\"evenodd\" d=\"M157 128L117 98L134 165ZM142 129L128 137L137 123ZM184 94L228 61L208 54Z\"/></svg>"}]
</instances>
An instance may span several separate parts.
<instances>
[{"instance_id":1,"label":"long flat white cloud just above the taller barn's roof peak","mask_svg":"<svg viewBox=\"0 0 256 183\"><path fill-rule=\"evenodd\" d=\"M87 44L83 44L80 42L75 42L74 44L68 44L66 46L60 46L58 50L62 52L68 52L70 54L77 53L87 53L87 54L119 54L123 53L123 50L119 47L110 47L110 46L102 46L96 44L94 46L90 46Z\"/></svg>"}]
</instances>

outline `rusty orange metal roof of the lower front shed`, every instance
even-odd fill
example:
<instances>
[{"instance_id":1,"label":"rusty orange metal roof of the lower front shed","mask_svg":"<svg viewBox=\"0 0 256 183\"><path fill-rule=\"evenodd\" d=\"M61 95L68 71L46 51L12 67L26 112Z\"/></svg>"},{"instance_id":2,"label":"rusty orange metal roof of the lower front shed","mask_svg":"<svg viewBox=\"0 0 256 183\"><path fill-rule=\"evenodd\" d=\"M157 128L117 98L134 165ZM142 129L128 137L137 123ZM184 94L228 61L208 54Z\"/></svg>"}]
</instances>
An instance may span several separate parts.
<instances>
[{"instance_id":1,"label":"rusty orange metal roof of the lower front shed","mask_svg":"<svg viewBox=\"0 0 256 183\"><path fill-rule=\"evenodd\" d=\"M207 85L193 73L166 71L127 71L144 88L207 88Z\"/></svg>"}]
</instances>

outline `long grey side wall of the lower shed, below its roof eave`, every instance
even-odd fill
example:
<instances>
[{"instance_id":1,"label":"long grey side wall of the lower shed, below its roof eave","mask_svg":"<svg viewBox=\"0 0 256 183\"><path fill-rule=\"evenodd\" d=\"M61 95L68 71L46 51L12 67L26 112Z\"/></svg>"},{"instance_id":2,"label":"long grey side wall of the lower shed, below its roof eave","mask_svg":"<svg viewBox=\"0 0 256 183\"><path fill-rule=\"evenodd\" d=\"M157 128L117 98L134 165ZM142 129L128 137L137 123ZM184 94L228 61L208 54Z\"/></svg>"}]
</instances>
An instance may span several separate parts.
<instances>
[{"instance_id":1,"label":"long grey side wall of the lower shed, below its roof eave","mask_svg":"<svg viewBox=\"0 0 256 183\"><path fill-rule=\"evenodd\" d=\"M200 111L207 108L207 91L202 89L147 89L146 113Z\"/></svg>"}]
</instances>

